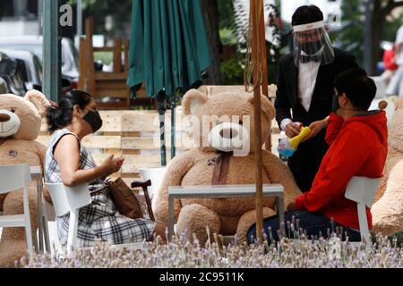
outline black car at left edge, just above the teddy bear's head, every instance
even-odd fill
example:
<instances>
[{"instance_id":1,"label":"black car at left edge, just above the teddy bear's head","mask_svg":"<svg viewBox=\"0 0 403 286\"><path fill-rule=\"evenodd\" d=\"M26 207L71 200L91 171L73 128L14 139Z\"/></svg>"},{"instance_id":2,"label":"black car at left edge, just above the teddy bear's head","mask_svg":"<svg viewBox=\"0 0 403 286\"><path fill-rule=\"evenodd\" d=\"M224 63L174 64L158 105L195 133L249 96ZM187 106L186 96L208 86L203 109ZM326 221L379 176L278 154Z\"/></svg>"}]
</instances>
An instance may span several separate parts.
<instances>
[{"instance_id":1,"label":"black car at left edge, just above the teddy bear's head","mask_svg":"<svg viewBox=\"0 0 403 286\"><path fill-rule=\"evenodd\" d=\"M23 80L24 68L23 62L13 61L8 55L0 53L0 77L7 85L6 93L13 93L21 97L26 94L27 88L25 88Z\"/></svg>"}]
</instances>

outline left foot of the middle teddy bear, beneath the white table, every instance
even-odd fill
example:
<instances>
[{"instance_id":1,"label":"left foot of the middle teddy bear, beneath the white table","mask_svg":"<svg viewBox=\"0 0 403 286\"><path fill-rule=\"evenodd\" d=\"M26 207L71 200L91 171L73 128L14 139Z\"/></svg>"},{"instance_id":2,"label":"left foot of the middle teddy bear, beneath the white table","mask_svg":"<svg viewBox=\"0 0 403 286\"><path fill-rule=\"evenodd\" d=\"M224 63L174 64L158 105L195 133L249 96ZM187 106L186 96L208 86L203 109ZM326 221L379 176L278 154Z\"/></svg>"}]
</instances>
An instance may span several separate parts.
<instances>
[{"instance_id":1,"label":"left foot of the middle teddy bear, beneath the white table","mask_svg":"<svg viewBox=\"0 0 403 286\"><path fill-rule=\"evenodd\" d=\"M179 235L187 230L188 238L192 239L194 233L201 246L204 246L208 240L207 227L210 229L210 238L212 239L213 234L219 233L221 227L219 214L198 204L182 207L177 219L177 233Z\"/></svg>"}]
</instances>

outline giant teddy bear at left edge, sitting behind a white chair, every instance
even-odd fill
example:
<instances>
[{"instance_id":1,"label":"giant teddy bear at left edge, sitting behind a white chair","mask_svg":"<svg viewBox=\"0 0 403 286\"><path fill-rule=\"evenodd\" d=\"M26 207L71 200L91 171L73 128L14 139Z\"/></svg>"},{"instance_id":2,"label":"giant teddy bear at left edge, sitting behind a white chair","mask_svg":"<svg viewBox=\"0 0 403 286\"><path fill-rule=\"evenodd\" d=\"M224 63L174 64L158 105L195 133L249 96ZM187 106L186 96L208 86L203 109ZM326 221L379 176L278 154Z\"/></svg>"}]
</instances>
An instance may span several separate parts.
<instances>
[{"instance_id":1,"label":"giant teddy bear at left edge, sitting behind a white chair","mask_svg":"<svg viewBox=\"0 0 403 286\"><path fill-rule=\"evenodd\" d=\"M0 95L0 164L43 166L46 147L35 139L47 105L47 98L37 90L30 90L25 97ZM38 228L35 181L30 182L29 202L34 239ZM0 210L4 215L23 214L22 191L0 195ZM4 228L0 241L0 267L12 267L15 260L27 255L26 249L23 228Z\"/></svg>"}]
</instances>

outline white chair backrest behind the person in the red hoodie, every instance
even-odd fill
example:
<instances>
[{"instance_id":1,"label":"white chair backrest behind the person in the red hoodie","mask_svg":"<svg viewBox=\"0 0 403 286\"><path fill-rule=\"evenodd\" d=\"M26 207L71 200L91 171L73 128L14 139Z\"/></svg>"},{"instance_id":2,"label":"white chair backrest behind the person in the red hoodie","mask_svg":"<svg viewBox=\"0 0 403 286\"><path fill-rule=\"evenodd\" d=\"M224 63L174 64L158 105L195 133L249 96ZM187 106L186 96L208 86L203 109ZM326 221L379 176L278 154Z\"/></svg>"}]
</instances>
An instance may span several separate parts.
<instances>
[{"instance_id":1,"label":"white chair backrest behind the person in the red hoodie","mask_svg":"<svg viewBox=\"0 0 403 286\"><path fill-rule=\"evenodd\" d=\"M353 177L347 184L345 197L371 207L380 181L381 178Z\"/></svg>"}]
</instances>

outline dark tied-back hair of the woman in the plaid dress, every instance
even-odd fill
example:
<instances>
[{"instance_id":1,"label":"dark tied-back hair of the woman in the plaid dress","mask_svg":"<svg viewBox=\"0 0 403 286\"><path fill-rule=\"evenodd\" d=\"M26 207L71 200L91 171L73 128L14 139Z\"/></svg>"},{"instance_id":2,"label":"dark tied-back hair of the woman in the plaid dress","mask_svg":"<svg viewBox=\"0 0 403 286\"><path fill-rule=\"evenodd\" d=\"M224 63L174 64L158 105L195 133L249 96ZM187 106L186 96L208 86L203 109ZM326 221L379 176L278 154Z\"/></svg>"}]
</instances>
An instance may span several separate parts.
<instances>
[{"instance_id":1,"label":"dark tied-back hair of the woman in the plaid dress","mask_svg":"<svg viewBox=\"0 0 403 286\"><path fill-rule=\"evenodd\" d=\"M79 105L81 109L85 109L93 97L85 91L72 90L65 94L57 104L58 107L47 107L47 130L54 132L59 128L63 128L73 120L73 106Z\"/></svg>"}]
</instances>

